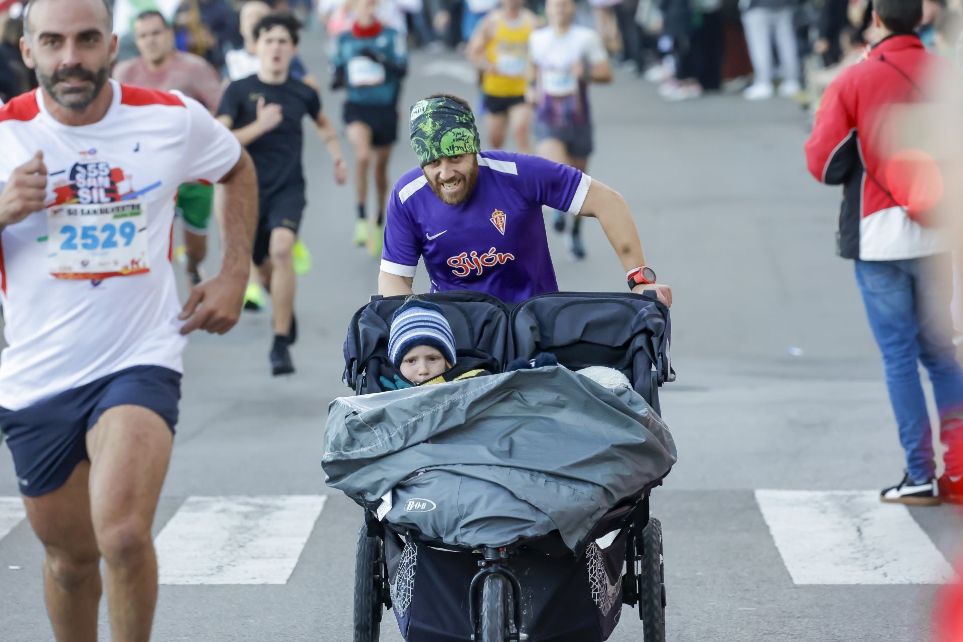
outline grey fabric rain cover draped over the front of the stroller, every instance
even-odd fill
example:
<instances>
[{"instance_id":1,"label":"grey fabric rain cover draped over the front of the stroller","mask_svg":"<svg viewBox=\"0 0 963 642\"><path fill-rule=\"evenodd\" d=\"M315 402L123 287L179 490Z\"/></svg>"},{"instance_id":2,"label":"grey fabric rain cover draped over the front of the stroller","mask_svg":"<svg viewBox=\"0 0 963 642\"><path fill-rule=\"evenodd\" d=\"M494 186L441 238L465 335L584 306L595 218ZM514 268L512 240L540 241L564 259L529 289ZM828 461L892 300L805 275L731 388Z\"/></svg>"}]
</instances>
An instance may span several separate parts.
<instances>
[{"instance_id":1,"label":"grey fabric rain cover draped over the front of the stroller","mask_svg":"<svg viewBox=\"0 0 963 642\"><path fill-rule=\"evenodd\" d=\"M328 486L446 544L507 546L558 529L574 551L675 461L637 392L553 366L336 398L322 466Z\"/></svg>"}]
</instances>

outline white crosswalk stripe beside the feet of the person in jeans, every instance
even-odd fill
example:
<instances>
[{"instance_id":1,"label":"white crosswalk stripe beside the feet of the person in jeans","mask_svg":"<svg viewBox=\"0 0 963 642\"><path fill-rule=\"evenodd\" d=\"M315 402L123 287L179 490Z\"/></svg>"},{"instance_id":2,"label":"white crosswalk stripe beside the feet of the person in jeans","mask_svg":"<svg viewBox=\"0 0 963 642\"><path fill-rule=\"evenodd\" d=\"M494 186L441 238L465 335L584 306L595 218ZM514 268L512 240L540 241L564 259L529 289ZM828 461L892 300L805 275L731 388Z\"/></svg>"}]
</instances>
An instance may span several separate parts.
<instances>
[{"instance_id":1,"label":"white crosswalk stripe beside the feet of the person in jeans","mask_svg":"<svg viewBox=\"0 0 963 642\"><path fill-rule=\"evenodd\" d=\"M873 491L757 490L796 584L940 584L946 558L901 504Z\"/></svg>"}]
</instances>

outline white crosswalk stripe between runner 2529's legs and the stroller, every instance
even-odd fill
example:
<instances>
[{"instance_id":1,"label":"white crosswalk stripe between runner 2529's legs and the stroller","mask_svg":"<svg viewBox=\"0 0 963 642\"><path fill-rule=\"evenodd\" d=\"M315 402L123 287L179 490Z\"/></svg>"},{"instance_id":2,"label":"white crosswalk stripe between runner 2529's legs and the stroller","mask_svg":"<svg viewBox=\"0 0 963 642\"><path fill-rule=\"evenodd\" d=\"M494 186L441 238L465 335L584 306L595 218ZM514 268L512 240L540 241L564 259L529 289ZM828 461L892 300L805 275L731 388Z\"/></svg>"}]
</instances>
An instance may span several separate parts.
<instances>
[{"instance_id":1,"label":"white crosswalk stripe between runner 2529's legs and the stroller","mask_svg":"<svg viewBox=\"0 0 963 642\"><path fill-rule=\"evenodd\" d=\"M190 497L161 530L162 584L286 584L324 496Z\"/></svg>"}]
</instances>

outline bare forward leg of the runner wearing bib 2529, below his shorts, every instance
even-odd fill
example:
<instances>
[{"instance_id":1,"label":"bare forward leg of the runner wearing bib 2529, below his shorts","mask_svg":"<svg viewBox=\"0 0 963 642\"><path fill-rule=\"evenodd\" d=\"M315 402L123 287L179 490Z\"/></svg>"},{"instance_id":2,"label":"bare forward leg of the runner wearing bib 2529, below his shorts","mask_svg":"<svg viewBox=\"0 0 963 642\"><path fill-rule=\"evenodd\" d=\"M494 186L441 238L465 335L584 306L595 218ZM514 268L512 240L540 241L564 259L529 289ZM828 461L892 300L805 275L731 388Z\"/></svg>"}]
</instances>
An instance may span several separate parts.
<instances>
[{"instance_id":1,"label":"bare forward leg of the runner wearing bib 2529, below his shorts","mask_svg":"<svg viewBox=\"0 0 963 642\"><path fill-rule=\"evenodd\" d=\"M87 433L91 517L107 562L115 642L147 642L157 604L157 556L150 536L168 472L173 434L142 406L110 408Z\"/></svg>"}]
</instances>

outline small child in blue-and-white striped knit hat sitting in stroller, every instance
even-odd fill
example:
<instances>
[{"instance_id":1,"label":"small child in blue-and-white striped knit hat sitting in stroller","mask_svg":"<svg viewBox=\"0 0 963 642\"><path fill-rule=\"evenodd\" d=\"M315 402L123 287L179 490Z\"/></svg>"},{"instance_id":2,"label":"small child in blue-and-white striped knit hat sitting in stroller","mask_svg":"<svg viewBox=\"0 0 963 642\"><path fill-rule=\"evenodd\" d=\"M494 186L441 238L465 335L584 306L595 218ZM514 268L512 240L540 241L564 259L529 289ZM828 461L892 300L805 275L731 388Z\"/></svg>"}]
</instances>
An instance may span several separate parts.
<instances>
[{"instance_id":1,"label":"small child in blue-and-white striped knit hat sitting in stroller","mask_svg":"<svg viewBox=\"0 0 963 642\"><path fill-rule=\"evenodd\" d=\"M474 349L462 349L458 359L455 334L441 308L409 296L391 319L388 358L398 370L392 379L380 376L386 390L459 381L491 374L494 362Z\"/></svg>"}]
</instances>

